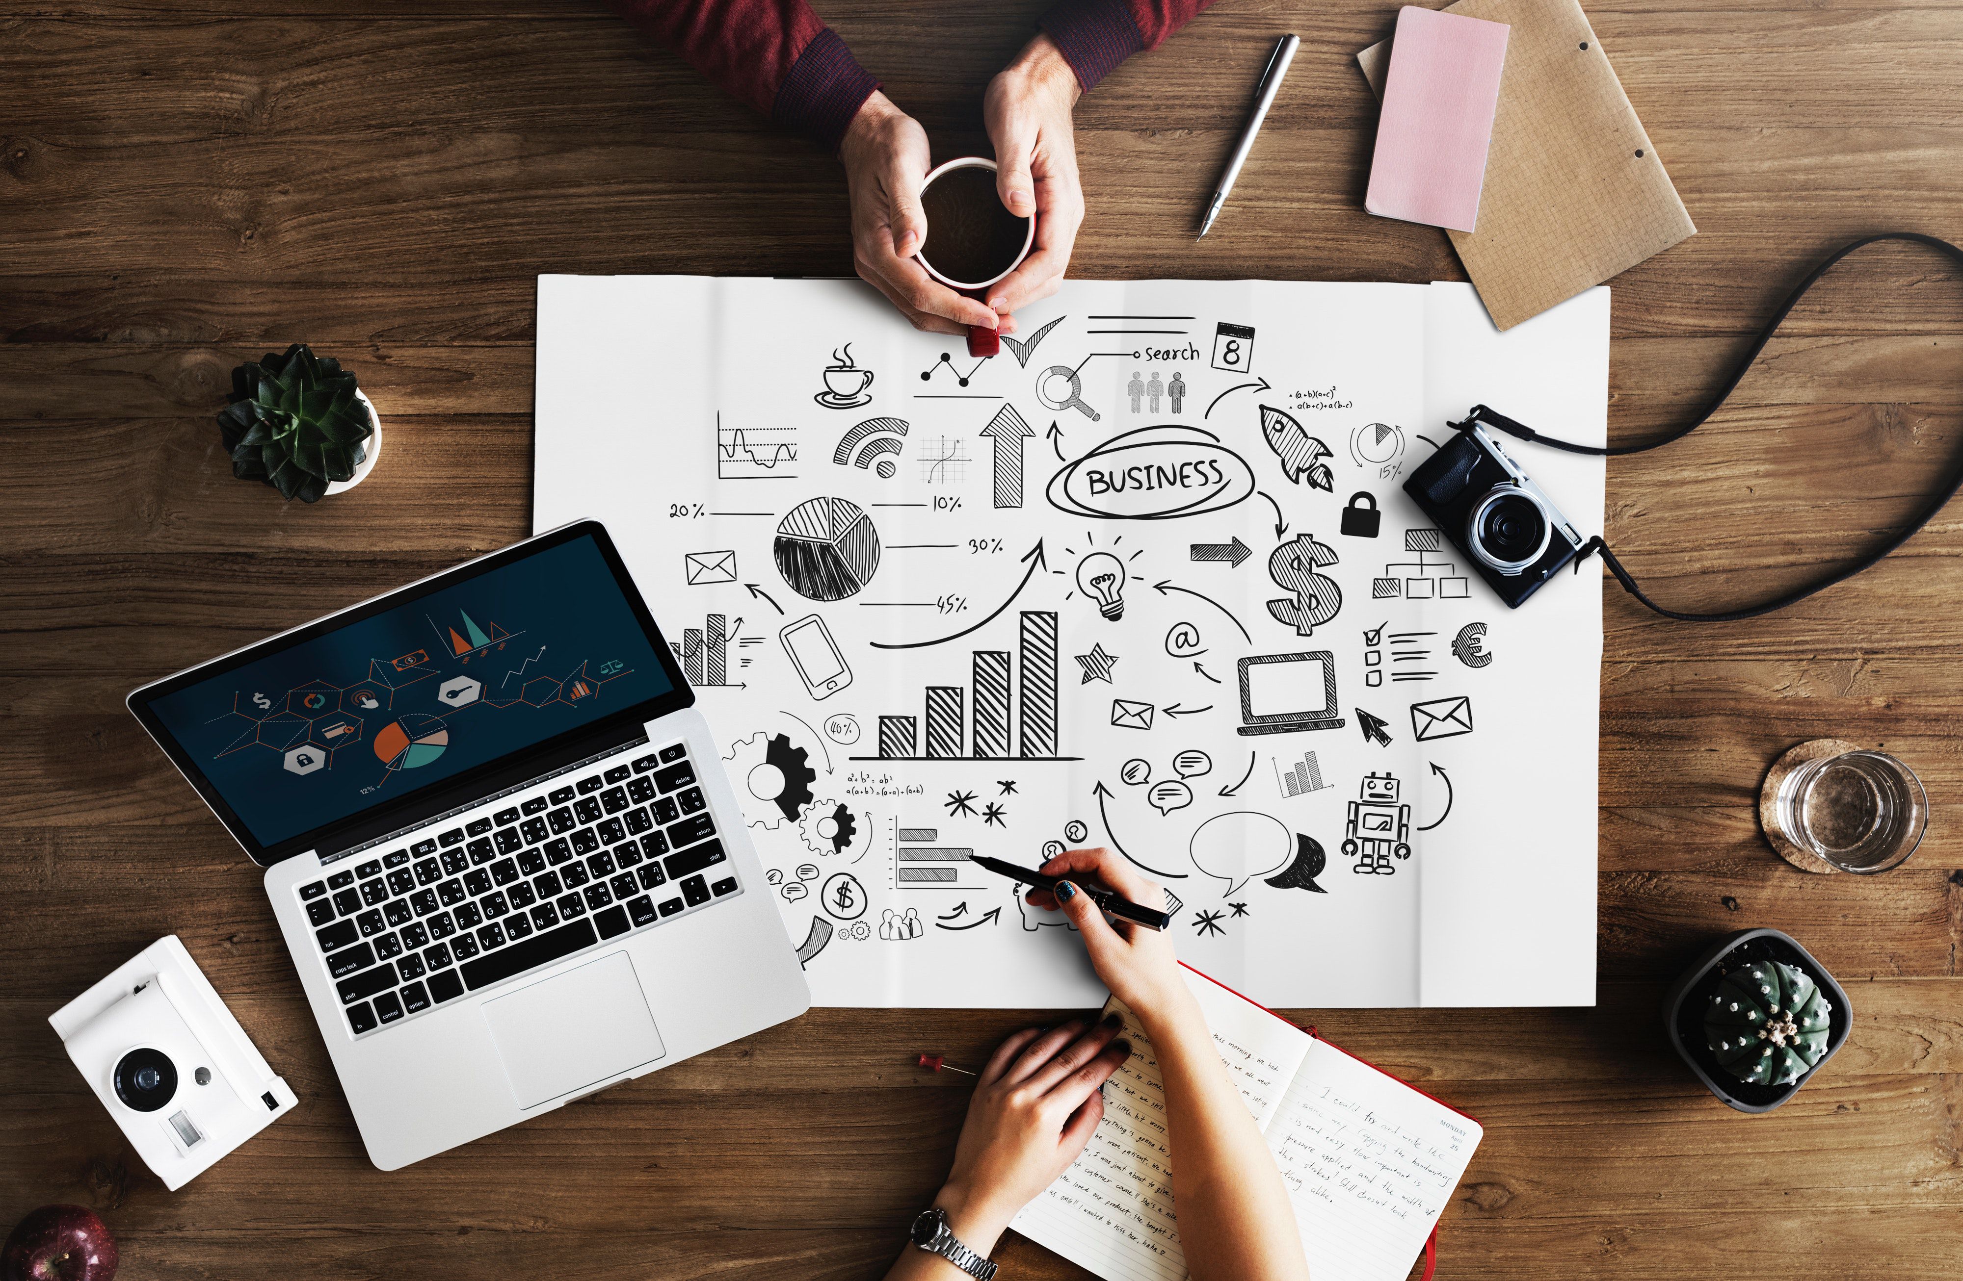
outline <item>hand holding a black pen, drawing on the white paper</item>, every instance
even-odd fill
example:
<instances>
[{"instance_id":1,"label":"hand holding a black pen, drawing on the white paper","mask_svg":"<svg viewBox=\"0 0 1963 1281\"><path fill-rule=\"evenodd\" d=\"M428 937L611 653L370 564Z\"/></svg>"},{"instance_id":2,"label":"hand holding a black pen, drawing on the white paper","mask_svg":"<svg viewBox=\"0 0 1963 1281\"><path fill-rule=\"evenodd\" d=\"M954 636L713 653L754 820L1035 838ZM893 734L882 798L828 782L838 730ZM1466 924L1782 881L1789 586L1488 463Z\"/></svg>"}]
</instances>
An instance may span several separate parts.
<instances>
[{"instance_id":1,"label":"hand holding a black pen, drawing on the white paper","mask_svg":"<svg viewBox=\"0 0 1963 1281\"><path fill-rule=\"evenodd\" d=\"M1144 908L1166 906L1166 893L1156 883L1141 877L1125 859L1109 849L1066 849L1038 871L1048 877L1064 877L1064 885L1050 891L1033 891L1029 902L1038 908L1062 908L1084 936L1084 949L1091 953L1091 965L1103 979L1111 995L1150 1026L1192 1002L1192 991L1180 979L1178 957L1172 955L1172 934L1146 930L1129 920L1109 922L1097 910L1089 895L1076 893L1078 885L1091 883L1113 889Z\"/></svg>"}]
</instances>

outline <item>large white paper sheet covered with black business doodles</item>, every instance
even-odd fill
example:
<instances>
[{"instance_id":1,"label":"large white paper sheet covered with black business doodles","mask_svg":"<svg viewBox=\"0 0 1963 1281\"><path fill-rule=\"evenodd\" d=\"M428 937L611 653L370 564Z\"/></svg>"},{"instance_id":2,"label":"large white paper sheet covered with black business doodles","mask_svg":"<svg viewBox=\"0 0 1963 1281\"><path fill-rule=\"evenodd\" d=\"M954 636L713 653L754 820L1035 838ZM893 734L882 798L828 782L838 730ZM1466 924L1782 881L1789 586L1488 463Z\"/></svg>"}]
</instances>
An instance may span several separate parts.
<instances>
[{"instance_id":1,"label":"large white paper sheet covered with black business doodles","mask_svg":"<svg viewBox=\"0 0 1963 1281\"><path fill-rule=\"evenodd\" d=\"M1600 573L1508 610L1400 487L1480 400L1602 439L1608 290L1502 335L1462 284L1074 281L989 361L848 281L538 292L536 528L612 530L819 1004L1101 1002L968 861L1082 844L1264 1004L1594 1000ZM1513 453L1600 528L1600 459Z\"/></svg>"}]
</instances>

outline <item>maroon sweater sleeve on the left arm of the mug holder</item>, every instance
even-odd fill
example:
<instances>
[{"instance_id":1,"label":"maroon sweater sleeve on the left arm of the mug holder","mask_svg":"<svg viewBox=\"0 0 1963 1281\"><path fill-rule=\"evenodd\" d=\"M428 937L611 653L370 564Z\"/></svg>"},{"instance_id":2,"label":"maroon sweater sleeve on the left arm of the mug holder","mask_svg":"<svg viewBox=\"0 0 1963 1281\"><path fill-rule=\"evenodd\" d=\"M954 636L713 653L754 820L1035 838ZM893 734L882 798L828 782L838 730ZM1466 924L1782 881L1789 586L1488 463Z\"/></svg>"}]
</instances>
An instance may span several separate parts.
<instances>
[{"instance_id":1,"label":"maroon sweater sleeve on the left arm of the mug holder","mask_svg":"<svg viewBox=\"0 0 1963 1281\"><path fill-rule=\"evenodd\" d=\"M609 2L728 94L832 151L879 88L805 0Z\"/></svg>"}]
</instances>

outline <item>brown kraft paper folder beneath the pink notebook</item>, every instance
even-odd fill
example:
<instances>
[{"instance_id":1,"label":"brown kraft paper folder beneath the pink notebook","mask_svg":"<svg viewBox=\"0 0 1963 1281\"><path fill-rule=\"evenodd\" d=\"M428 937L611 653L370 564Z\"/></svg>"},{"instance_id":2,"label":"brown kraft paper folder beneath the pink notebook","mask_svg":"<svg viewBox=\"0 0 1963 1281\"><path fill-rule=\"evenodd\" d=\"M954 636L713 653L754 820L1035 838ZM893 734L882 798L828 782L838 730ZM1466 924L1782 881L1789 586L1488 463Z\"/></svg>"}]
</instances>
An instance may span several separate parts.
<instances>
[{"instance_id":1,"label":"brown kraft paper folder beneath the pink notebook","mask_svg":"<svg viewBox=\"0 0 1963 1281\"><path fill-rule=\"evenodd\" d=\"M1478 230L1447 231L1498 328L1696 233L1576 0L1459 0L1445 12L1512 27ZM1390 41L1356 63L1382 96Z\"/></svg>"}]
</instances>

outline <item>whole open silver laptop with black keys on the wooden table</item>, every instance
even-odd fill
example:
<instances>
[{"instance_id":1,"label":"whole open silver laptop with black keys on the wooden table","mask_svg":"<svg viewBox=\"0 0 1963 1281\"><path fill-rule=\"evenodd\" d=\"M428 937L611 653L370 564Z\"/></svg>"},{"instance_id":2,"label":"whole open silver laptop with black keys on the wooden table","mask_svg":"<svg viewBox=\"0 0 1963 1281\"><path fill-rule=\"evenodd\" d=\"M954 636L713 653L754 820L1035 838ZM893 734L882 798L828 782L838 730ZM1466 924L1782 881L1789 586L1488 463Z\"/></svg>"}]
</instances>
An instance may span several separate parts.
<instances>
[{"instance_id":1,"label":"whole open silver laptop with black keys on the wooden table","mask_svg":"<svg viewBox=\"0 0 1963 1281\"><path fill-rule=\"evenodd\" d=\"M599 522L130 710L267 869L381 1169L811 1004L716 743Z\"/></svg>"}]
</instances>

